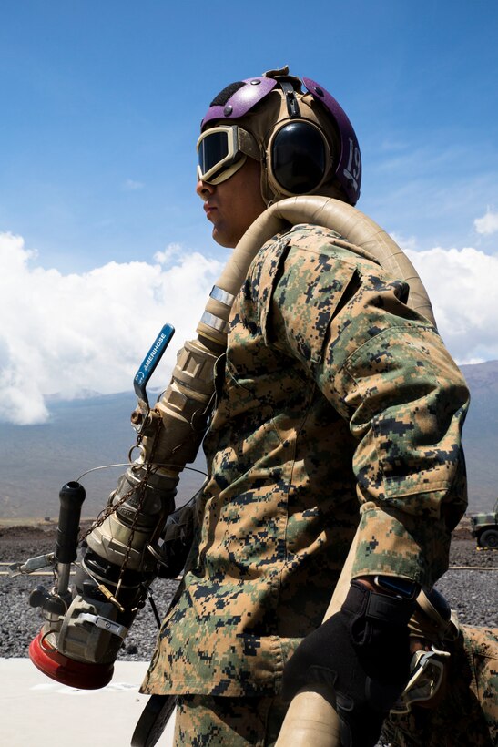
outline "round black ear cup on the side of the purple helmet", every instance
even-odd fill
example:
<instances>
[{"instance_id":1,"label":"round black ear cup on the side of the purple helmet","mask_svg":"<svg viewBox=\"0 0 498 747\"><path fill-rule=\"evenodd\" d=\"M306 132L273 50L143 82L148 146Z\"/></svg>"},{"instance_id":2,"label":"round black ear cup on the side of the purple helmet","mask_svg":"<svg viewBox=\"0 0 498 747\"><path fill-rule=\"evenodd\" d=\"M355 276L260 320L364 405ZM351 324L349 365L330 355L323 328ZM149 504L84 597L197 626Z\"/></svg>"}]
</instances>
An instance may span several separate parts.
<instances>
[{"instance_id":1,"label":"round black ear cup on the side of the purple helmet","mask_svg":"<svg viewBox=\"0 0 498 747\"><path fill-rule=\"evenodd\" d=\"M330 172L330 145L320 128L287 120L269 140L269 178L288 195L309 194Z\"/></svg>"}]
</instances>

